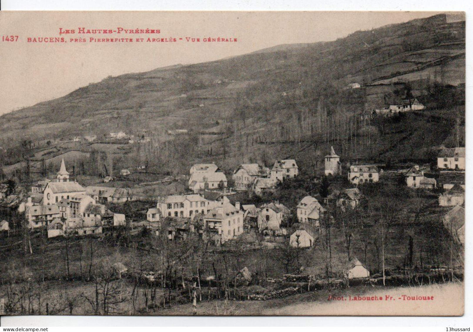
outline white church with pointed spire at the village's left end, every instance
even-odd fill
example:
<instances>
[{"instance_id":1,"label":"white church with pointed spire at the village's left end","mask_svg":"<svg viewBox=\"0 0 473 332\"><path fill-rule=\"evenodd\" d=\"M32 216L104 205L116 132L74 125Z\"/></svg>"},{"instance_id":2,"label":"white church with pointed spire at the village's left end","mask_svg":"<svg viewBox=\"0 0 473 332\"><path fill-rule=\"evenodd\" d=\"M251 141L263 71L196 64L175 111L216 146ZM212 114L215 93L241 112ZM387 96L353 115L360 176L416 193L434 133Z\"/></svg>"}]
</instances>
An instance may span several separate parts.
<instances>
[{"instance_id":1,"label":"white church with pointed spire at the village's left end","mask_svg":"<svg viewBox=\"0 0 473 332\"><path fill-rule=\"evenodd\" d=\"M61 199L69 200L80 194L85 194L86 190L76 181L69 181L69 172L66 170L64 159L61 161L61 168L56 176L56 181L48 182L43 192L43 204L56 204Z\"/></svg>"}]
</instances>

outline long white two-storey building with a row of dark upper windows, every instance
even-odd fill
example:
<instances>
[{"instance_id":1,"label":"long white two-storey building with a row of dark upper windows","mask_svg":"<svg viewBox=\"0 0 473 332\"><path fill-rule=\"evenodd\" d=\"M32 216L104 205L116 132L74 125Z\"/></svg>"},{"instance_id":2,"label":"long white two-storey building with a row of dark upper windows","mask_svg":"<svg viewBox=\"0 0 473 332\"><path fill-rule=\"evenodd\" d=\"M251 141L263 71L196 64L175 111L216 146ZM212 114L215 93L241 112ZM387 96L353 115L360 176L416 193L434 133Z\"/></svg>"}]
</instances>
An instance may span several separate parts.
<instances>
[{"instance_id":1,"label":"long white two-storey building with a row of dark upper windows","mask_svg":"<svg viewBox=\"0 0 473 332\"><path fill-rule=\"evenodd\" d=\"M162 217L193 218L196 214L207 214L217 205L201 195L170 195L159 198L156 208Z\"/></svg>"}]
</instances>

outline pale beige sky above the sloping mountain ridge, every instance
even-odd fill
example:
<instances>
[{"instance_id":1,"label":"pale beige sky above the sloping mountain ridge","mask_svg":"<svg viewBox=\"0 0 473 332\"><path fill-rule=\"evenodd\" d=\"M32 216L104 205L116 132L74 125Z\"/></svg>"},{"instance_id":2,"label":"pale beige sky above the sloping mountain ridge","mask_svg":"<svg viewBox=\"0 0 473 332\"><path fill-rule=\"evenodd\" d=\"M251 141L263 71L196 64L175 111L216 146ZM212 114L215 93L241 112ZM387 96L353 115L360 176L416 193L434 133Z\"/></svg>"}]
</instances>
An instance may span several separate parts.
<instances>
[{"instance_id":1,"label":"pale beige sky above the sloping mountain ridge","mask_svg":"<svg viewBox=\"0 0 473 332\"><path fill-rule=\"evenodd\" d=\"M108 76L213 61L279 44L331 41L437 12L0 12L0 115L64 96ZM86 29L159 29L159 34L79 35ZM75 34L59 35L59 29ZM187 42L185 37L237 38ZM27 38L64 37L66 43ZM73 43L70 38L183 38L177 42ZM16 39L16 37L14 37Z\"/></svg>"}]
</instances>

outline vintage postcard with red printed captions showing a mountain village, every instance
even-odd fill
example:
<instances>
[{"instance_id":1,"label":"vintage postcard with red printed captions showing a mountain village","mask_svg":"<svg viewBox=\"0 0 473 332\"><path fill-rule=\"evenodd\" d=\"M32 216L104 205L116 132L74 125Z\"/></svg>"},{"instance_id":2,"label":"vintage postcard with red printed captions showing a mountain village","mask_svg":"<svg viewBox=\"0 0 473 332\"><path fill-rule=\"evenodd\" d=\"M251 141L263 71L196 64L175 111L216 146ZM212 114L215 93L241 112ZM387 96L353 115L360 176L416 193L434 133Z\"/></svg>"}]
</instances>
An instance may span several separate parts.
<instances>
[{"instance_id":1,"label":"vintage postcard with red printed captions showing a mountain village","mask_svg":"<svg viewBox=\"0 0 473 332\"><path fill-rule=\"evenodd\" d=\"M463 315L463 12L0 12L0 59L0 315Z\"/></svg>"}]
</instances>

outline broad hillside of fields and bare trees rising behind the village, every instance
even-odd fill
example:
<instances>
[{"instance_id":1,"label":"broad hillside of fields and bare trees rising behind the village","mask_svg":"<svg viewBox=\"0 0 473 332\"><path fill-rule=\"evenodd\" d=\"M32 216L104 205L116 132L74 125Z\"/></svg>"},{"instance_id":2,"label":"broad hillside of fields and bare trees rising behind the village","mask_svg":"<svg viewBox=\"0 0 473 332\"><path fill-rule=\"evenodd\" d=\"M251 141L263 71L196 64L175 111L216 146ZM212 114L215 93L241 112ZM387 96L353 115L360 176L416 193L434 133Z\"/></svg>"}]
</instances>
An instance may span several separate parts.
<instances>
[{"instance_id":1,"label":"broad hillside of fields and bare trees rising behind the village","mask_svg":"<svg viewBox=\"0 0 473 332\"><path fill-rule=\"evenodd\" d=\"M330 144L343 157L423 158L423 150L448 144L455 118L464 117L464 101L458 98L465 82L464 36L464 21L437 15L357 31L333 42L280 45L219 61L109 77L2 115L3 164L22 160L22 140L31 140L37 152L49 148L46 141L84 135L105 140L110 131L146 132L151 138L149 144L125 144L113 151L121 167L146 161L173 172L197 160L231 168L288 156L316 168L318 162L307 151L320 157ZM363 87L344 89L355 82ZM407 96L436 113L397 123L358 119L357 114ZM452 102L442 104L445 96ZM189 133L166 133L174 129ZM405 152L406 141L416 151ZM79 144L67 152L83 155L93 149ZM394 152L385 156L388 150Z\"/></svg>"}]
</instances>

